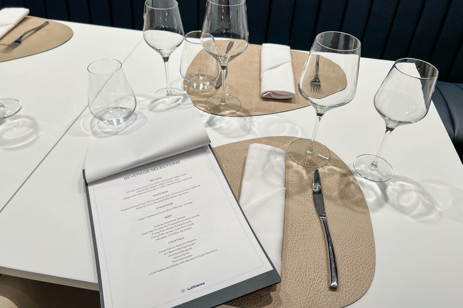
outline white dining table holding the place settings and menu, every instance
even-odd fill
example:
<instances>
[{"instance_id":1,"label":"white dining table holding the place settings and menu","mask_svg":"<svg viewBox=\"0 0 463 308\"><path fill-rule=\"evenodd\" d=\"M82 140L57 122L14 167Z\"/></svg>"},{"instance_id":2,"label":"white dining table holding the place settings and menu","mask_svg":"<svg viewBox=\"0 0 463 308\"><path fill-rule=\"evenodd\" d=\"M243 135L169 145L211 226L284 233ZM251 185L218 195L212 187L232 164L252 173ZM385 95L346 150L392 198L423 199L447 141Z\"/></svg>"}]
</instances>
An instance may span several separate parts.
<instances>
[{"instance_id":1,"label":"white dining table holding the place settings and menu","mask_svg":"<svg viewBox=\"0 0 463 308\"><path fill-rule=\"evenodd\" d=\"M0 93L23 103L0 122L0 273L98 290L82 169L89 136L103 123L86 108L86 67L100 58L121 60L141 116L165 87L164 66L141 31L65 24L74 30L69 42L0 63L0 83L7 85ZM174 86L182 85L180 58L178 48L169 61ZM328 112L317 135L353 171L373 225L375 276L352 307L463 307L463 165L434 105L422 121L390 136L382 153L394 168L390 181L364 180L352 168L355 157L374 154L381 142L385 125L373 97L392 64L362 58L356 97ZM198 113L212 146L310 138L315 123L310 106L250 117ZM29 129L16 142L15 130Z\"/></svg>"}]
</instances>

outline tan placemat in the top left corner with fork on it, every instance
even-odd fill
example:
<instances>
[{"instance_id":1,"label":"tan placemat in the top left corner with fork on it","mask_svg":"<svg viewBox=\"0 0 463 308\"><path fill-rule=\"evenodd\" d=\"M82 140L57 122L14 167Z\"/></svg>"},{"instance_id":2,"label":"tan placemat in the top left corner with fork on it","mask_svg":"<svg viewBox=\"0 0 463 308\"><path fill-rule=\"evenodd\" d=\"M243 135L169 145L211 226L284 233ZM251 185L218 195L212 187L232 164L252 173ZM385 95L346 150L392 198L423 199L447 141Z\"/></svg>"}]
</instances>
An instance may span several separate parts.
<instances>
[{"instance_id":1,"label":"tan placemat in the top left corner with fork on it","mask_svg":"<svg viewBox=\"0 0 463 308\"><path fill-rule=\"evenodd\" d=\"M26 34L19 46L9 47L25 31L38 27L48 19L26 16L12 30L0 39L0 62L38 54L67 42L74 34L68 26L51 21L37 31Z\"/></svg>"}]
</instances>

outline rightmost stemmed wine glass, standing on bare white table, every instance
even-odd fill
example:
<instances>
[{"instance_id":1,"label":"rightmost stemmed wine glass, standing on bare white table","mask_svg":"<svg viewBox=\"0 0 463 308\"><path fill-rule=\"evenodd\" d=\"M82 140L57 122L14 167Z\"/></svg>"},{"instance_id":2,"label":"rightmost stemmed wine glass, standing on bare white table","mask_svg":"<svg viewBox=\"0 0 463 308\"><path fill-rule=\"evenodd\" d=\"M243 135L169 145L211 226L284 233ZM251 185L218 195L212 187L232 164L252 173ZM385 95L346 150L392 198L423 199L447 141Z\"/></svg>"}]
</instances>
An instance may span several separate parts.
<instances>
[{"instance_id":1,"label":"rightmost stemmed wine glass, standing on bare white table","mask_svg":"<svg viewBox=\"0 0 463 308\"><path fill-rule=\"evenodd\" d=\"M354 160L354 169L365 179L385 182L394 170L380 157L392 131L400 125L418 122L428 113L438 70L418 59L399 59L375 94L376 111L386 122L386 133L376 155L364 154Z\"/></svg>"}]
</instances>

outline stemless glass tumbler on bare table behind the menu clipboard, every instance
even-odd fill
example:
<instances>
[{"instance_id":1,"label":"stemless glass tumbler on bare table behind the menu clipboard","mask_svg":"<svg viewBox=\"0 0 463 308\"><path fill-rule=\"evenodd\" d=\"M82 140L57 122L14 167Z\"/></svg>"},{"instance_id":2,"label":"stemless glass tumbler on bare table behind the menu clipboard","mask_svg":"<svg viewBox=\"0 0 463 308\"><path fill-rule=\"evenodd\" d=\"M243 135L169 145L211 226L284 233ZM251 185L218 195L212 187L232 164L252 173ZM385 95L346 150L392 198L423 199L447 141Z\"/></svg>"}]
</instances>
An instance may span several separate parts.
<instances>
[{"instance_id":1,"label":"stemless glass tumbler on bare table behind the menu clipboard","mask_svg":"<svg viewBox=\"0 0 463 308\"><path fill-rule=\"evenodd\" d=\"M88 108L107 124L130 119L137 101L118 60L97 60L88 66Z\"/></svg>"}]
</instances>

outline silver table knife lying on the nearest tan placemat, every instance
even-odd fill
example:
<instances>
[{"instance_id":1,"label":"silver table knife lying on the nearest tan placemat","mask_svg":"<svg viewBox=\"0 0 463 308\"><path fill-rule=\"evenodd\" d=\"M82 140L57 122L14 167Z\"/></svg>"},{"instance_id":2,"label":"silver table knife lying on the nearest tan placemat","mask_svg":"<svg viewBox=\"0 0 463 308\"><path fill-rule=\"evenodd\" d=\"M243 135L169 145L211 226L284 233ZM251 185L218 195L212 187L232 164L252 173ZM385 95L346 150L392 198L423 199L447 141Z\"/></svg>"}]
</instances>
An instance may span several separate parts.
<instances>
[{"instance_id":1,"label":"silver table knife lying on the nearest tan placemat","mask_svg":"<svg viewBox=\"0 0 463 308\"><path fill-rule=\"evenodd\" d=\"M315 170L313 174L313 203L319 215L323 229L325 230L326 247L328 248L328 263L330 272L330 288L338 287L338 266L336 265L336 257L334 255L333 242L331 240L328 222L326 221L325 203L323 202L323 192L321 190L320 174Z\"/></svg>"}]
</instances>

